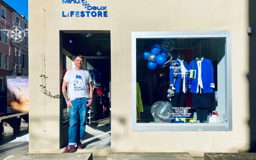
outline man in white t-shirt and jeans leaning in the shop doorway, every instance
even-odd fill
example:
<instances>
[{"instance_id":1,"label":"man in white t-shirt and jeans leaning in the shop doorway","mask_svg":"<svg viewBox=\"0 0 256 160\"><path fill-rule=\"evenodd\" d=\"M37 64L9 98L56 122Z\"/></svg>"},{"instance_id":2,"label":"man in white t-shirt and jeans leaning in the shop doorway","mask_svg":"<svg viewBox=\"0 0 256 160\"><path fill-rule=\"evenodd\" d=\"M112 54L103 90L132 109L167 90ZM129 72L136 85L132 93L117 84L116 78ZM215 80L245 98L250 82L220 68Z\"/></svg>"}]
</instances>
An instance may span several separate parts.
<instances>
[{"instance_id":1,"label":"man in white t-shirt and jeans leaning in the shop doorway","mask_svg":"<svg viewBox=\"0 0 256 160\"><path fill-rule=\"evenodd\" d=\"M84 57L77 55L75 57L74 69L69 69L63 80L62 93L69 107L69 129L68 129L68 146L62 153L69 153L77 149L82 149L82 141L85 132L85 122L88 107L92 104L92 79L90 73L82 68ZM69 98L66 87L69 87ZM76 137L77 119L80 117L80 133Z\"/></svg>"}]
</instances>

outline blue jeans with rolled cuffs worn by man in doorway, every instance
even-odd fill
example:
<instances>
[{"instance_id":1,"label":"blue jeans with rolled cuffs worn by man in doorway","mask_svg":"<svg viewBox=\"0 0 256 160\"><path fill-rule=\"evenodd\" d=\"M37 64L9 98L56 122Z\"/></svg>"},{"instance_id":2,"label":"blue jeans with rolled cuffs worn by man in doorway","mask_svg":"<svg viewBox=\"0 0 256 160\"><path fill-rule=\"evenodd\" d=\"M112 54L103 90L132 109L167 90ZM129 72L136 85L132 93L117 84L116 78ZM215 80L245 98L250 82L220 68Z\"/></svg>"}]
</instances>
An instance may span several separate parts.
<instances>
[{"instance_id":1,"label":"blue jeans with rolled cuffs worn by man in doorway","mask_svg":"<svg viewBox=\"0 0 256 160\"><path fill-rule=\"evenodd\" d=\"M76 142L82 142L84 140L85 122L88 107L85 105L88 103L88 98L76 98L71 103L73 107L69 107L69 129L68 129L68 145L75 145ZM80 117L80 132L76 134L78 115ZM77 141L76 141L77 139Z\"/></svg>"}]
</instances>

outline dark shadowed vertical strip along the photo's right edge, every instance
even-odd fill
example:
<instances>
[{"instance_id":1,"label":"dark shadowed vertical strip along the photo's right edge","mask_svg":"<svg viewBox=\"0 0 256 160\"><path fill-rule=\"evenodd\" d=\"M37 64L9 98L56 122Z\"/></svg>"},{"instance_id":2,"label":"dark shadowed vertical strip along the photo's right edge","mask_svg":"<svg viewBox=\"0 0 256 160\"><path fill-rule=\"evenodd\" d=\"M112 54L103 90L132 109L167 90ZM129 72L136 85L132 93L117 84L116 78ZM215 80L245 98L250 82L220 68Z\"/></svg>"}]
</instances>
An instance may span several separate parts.
<instances>
[{"instance_id":1,"label":"dark shadowed vertical strip along the photo's right edge","mask_svg":"<svg viewBox=\"0 0 256 160\"><path fill-rule=\"evenodd\" d=\"M256 1L249 0L249 26L256 29ZM249 100L250 100L250 120L248 122L250 127L250 152L256 152L256 33L249 34L250 46L249 46L249 74L247 75L249 81Z\"/></svg>"}]
</instances>

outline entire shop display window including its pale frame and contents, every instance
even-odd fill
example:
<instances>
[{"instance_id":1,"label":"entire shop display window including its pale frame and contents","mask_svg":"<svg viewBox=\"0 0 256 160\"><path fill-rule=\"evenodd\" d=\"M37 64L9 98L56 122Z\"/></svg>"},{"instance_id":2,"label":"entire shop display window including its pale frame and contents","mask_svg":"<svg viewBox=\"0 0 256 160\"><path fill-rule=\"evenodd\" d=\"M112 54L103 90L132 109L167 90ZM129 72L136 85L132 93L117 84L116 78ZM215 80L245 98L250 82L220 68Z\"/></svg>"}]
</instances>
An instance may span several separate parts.
<instances>
[{"instance_id":1,"label":"entire shop display window including its pale frame and contents","mask_svg":"<svg viewBox=\"0 0 256 160\"><path fill-rule=\"evenodd\" d=\"M232 130L231 32L132 32L132 130Z\"/></svg>"}]
</instances>

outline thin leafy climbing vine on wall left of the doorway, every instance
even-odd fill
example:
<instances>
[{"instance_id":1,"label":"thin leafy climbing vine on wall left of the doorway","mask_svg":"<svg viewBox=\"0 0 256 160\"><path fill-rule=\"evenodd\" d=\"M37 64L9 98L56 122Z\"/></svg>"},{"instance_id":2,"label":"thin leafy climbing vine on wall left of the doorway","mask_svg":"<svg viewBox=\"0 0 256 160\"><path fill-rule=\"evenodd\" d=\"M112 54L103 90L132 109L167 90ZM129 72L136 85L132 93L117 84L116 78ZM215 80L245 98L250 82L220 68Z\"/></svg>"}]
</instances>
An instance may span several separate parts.
<instances>
[{"instance_id":1,"label":"thin leafy climbing vine on wall left of the doorway","mask_svg":"<svg viewBox=\"0 0 256 160\"><path fill-rule=\"evenodd\" d=\"M45 54L41 54L41 59L42 59L42 74L41 74L41 78L42 78L42 84L40 85L41 86L41 92L43 92L46 96L48 96L49 98L55 98L55 99L60 99L60 95L59 94L56 94L56 95L52 95L51 92L47 91L46 89L46 80L47 80L47 76L45 75Z\"/></svg>"}]
</instances>

